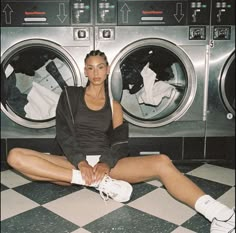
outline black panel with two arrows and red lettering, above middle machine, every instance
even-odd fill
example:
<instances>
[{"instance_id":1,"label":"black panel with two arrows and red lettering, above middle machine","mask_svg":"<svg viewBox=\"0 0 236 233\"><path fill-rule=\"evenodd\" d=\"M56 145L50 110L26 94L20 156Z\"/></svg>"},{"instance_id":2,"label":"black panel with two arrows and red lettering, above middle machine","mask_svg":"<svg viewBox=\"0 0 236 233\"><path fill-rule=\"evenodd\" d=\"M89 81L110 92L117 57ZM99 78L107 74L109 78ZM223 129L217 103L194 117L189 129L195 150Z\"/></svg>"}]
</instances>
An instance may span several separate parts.
<instances>
[{"instance_id":1,"label":"black panel with two arrows and red lettering, above middle machine","mask_svg":"<svg viewBox=\"0 0 236 233\"><path fill-rule=\"evenodd\" d=\"M185 25L186 12L186 0L118 0L118 25Z\"/></svg>"}]
</instances>

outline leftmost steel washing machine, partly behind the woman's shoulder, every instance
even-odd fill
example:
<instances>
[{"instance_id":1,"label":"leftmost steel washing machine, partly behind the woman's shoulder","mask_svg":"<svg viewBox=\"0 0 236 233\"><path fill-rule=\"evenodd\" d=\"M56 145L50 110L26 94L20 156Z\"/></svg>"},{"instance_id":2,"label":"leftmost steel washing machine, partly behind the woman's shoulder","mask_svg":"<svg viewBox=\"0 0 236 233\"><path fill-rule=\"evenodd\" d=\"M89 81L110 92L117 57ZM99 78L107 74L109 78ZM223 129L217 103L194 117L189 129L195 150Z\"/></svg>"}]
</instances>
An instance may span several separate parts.
<instances>
[{"instance_id":1,"label":"leftmost steel washing machine, partly behind the woman's shoulder","mask_svg":"<svg viewBox=\"0 0 236 233\"><path fill-rule=\"evenodd\" d=\"M65 86L93 49L92 0L1 2L1 138L54 138Z\"/></svg>"}]
</instances>

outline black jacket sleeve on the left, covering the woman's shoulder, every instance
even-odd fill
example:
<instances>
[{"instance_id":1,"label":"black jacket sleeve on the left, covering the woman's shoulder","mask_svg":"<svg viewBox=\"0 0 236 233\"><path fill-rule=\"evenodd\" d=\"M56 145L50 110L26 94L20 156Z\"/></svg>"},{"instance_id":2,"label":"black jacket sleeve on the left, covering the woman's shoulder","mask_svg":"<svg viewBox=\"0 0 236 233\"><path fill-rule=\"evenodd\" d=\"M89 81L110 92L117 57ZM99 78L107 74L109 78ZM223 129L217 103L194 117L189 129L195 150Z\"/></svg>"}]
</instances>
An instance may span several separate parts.
<instances>
[{"instance_id":1,"label":"black jacket sleeve on the left, covering the woman's shoulder","mask_svg":"<svg viewBox=\"0 0 236 233\"><path fill-rule=\"evenodd\" d=\"M86 156L80 150L79 142L75 137L73 101L78 100L78 96L71 98L73 89L71 90L72 92L67 92L67 89L65 89L61 93L58 101L56 109L56 139L67 159L78 168L78 163L86 160ZM68 93L70 93L70 95ZM76 92L74 92L74 94L76 94Z\"/></svg>"}]
</instances>

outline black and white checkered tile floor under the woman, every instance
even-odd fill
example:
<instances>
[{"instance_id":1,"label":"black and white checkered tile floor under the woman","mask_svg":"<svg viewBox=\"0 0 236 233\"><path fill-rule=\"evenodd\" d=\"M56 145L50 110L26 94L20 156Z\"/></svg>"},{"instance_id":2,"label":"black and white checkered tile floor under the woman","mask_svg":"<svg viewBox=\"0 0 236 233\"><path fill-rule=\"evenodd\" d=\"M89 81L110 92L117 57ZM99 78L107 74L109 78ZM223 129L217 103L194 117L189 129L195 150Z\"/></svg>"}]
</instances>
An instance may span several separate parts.
<instances>
[{"instance_id":1,"label":"black and white checkered tile floor under the woman","mask_svg":"<svg viewBox=\"0 0 236 233\"><path fill-rule=\"evenodd\" d=\"M206 193L235 206L235 170L176 164ZM31 182L1 172L2 233L207 233L210 223L173 199L157 180L133 185L127 203L104 202L93 189Z\"/></svg>"}]
</instances>

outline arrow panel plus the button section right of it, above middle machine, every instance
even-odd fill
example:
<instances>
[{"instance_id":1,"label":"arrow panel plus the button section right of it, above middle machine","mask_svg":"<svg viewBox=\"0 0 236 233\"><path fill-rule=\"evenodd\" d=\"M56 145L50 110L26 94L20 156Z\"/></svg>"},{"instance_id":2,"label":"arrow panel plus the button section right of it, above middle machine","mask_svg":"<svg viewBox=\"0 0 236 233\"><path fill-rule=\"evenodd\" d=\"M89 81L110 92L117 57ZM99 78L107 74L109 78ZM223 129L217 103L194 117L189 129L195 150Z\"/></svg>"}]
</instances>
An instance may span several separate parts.
<instances>
[{"instance_id":1,"label":"arrow panel plus the button section right of it, above middle machine","mask_svg":"<svg viewBox=\"0 0 236 233\"><path fill-rule=\"evenodd\" d=\"M118 0L118 25L209 25L210 0Z\"/></svg>"}]
</instances>

